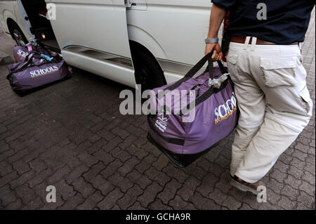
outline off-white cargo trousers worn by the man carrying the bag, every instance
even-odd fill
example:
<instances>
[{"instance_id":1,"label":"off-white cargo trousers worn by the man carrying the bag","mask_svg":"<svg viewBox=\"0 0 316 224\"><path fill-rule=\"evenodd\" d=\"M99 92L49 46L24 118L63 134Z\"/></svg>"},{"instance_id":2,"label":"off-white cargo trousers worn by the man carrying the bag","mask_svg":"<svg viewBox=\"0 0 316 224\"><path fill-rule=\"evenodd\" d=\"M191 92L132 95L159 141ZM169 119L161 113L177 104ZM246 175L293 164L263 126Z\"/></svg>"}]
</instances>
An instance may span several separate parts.
<instances>
[{"instance_id":1,"label":"off-white cargo trousers worn by the man carrying the bag","mask_svg":"<svg viewBox=\"0 0 316 224\"><path fill-rule=\"evenodd\" d=\"M240 110L231 175L256 183L303 131L312 116L298 45L230 43L228 70Z\"/></svg>"}]
</instances>

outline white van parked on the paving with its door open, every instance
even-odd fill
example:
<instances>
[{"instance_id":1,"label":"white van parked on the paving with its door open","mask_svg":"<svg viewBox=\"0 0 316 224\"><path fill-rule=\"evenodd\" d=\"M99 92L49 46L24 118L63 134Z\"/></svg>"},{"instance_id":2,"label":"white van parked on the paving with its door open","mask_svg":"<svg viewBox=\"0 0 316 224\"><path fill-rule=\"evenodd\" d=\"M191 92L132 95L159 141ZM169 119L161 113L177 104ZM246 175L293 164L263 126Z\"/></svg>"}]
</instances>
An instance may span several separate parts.
<instances>
[{"instance_id":1,"label":"white van parked on the paving with its door open","mask_svg":"<svg viewBox=\"0 0 316 224\"><path fill-rule=\"evenodd\" d=\"M1 25L18 44L40 39L69 65L145 88L180 79L202 58L210 12L211 0L0 1Z\"/></svg>"}]
</instances>

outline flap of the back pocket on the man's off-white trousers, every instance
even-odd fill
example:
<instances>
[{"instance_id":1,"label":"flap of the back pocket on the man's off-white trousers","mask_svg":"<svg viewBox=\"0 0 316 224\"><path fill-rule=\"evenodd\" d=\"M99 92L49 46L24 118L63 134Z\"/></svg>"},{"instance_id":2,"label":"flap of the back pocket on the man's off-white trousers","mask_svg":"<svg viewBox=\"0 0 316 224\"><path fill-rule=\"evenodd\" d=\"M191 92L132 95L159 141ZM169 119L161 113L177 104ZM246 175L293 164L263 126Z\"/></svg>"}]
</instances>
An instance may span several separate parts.
<instances>
[{"instance_id":1,"label":"flap of the back pocket on the man's off-white trousers","mask_svg":"<svg viewBox=\"0 0 316 224\"><path fill-rule=\"evenodd\" d=\"M296 67L296 57L291 58L260 58L260 66L264 70L277 70Z\"/></svg>"}]
</instances>

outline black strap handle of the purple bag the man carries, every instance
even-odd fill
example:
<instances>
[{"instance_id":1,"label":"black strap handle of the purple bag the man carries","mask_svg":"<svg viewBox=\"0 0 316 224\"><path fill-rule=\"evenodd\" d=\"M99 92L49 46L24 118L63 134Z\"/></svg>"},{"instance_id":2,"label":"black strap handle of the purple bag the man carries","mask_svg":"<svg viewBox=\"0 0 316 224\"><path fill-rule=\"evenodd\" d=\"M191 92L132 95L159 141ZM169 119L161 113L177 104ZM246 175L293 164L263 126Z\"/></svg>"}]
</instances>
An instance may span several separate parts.
<instances>
[{"instance_id":1,"label":"black strap handle of the purple bag the man carries","mask_svg":"<svg viewBox=\"0 0 316 224\"><path fill-rule=\"evenodd\" d=\"M173 91L174 89L178 88L181 84L183 84L183 82L194 77L195 74L197 74L197 72L199 72L199 70L203 67L203 65L206 62L209 62L209 65L207 66L206 70L209 70L209 77L210 77L210 79L213 79L214 66L213 66L213 60L211 58L211 55L213 55L213 51L211 53L208 53L207 55L205 55L201 60L199 60L199 62L197 62L197 64L195 66L193 66L191 68L191 70L189 72L187 72L187 74L185 74L185 77L183 77L182 79L177 81L175 84L165 88L164 93L166 93L166 91ZM222 74L227 73L222 62L217 61L217 63L218 63L218 66L220 67L220 72L222 72ZM164 97L164 94L157 93L156 97L161 99Z\"/></svg>"}]
</instances>

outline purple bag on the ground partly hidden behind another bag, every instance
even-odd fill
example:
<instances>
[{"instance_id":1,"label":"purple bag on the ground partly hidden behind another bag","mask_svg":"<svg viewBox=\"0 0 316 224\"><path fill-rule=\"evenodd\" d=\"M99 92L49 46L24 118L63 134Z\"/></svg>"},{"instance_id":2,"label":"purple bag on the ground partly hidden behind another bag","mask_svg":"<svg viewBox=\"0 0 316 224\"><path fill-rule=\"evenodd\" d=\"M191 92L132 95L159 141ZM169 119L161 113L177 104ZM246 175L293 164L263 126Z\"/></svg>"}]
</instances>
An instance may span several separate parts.
<instances>
[{"instance_id":1,"label":"purple bag on the ground partly hidden behind another bag","mask_svg":"<svg viewBox=\"0 0 316 224\"><path fill-rule=\"evenodd\" d=\"M58 54L53 52L53 51L50 51L46 48L44 48L43 46L32 46L32 51L29 51L27 49L26 46L14 46L13 48L13 55L14 55L14 59L15 59L15 62L23 62L25 61L25 58L27 58L27 55L29 55L30 53L34 53L34 52L37 52L37 53L43 53L45 55L49 55L49 56L57 56Z\"/></svg>"}]
</instances>

